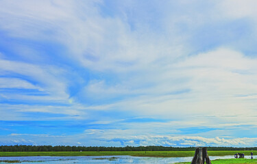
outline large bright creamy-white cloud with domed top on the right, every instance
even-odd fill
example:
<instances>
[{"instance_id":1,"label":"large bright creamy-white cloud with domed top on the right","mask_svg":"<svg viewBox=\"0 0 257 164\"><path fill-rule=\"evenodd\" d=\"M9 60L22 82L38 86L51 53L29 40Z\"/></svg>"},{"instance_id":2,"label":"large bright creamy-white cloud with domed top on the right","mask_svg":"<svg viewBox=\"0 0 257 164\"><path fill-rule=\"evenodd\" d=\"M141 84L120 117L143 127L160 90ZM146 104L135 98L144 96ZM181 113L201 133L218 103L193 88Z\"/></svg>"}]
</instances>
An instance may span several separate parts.
<instances>
[{"instance_id":1,"label":"large bright creamy-white cloud with domed top on the right","mask_svg":"<svg viewBox=\"0 0 257 164\"><path fill-rule=\"evenodd\" d=\"M147 96L127 98L114 104L114 108L167 117L231 115L235 111L236 115L254 114L256 63L256 59L247 58L230 49L217 49L194 55L169 66L164 72L153 74L156 79L164 77L163 74L167 75L165 81L157 83L147 77L147 81L153 82L154 87L130 91L131 94L137 92ZM186 79L186 82L178 83L178 79ZM140 81L145 80L142 77ZM130 82L134 83L133 79ZM177 85L189 88L190 91L185 94L172 94L172 91L176 91L174 86Z\"/></svg>"}]
</instances>

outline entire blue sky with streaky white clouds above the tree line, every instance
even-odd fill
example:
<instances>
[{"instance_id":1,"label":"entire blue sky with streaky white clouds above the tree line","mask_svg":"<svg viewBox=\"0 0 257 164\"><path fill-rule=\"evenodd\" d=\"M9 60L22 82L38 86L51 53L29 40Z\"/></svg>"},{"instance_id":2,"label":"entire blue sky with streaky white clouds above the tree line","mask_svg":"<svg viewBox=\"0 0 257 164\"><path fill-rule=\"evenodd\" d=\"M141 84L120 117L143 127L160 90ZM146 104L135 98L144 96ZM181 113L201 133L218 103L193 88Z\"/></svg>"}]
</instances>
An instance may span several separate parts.
<instances>
[{"instance_id":1,"label":"entire blue sky with streaky white clouds above the tree line","mask_svg":"<svg viewBox=\"0 0 257 164\"><path fill-rule=\"evenodd\" d=\"M0 6L0 145L257 146L257 1Z\"/></svg>"}]
</instances>

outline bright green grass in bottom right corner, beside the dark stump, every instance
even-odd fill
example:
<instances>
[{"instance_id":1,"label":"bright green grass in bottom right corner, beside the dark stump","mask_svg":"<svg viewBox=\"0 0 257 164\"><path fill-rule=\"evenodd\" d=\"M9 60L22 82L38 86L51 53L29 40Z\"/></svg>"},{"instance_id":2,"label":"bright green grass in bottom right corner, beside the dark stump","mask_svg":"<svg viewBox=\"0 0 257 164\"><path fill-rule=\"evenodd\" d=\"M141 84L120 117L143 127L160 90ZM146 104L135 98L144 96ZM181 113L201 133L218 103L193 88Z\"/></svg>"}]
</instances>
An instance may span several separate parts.
<instances>
[{"instance_id":1,"label":"bright green grass in bottom right corner, beside the dark stump","mask_svg":"<svg viewBox=\"0 0 257 164\"><path fill-rule=\"evenodd\" d=\"M191 162L187 163L180 163L180 164L190 164ZM252 164L257 163L257 159L216 159L212 161L212 164Z\"/></svg>"}]
</instances>

